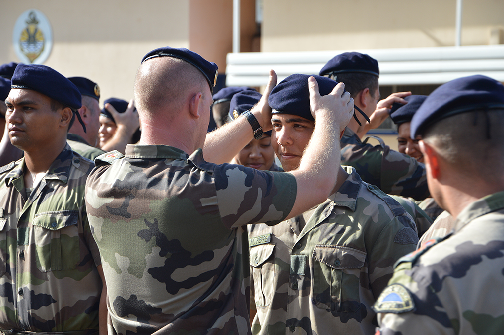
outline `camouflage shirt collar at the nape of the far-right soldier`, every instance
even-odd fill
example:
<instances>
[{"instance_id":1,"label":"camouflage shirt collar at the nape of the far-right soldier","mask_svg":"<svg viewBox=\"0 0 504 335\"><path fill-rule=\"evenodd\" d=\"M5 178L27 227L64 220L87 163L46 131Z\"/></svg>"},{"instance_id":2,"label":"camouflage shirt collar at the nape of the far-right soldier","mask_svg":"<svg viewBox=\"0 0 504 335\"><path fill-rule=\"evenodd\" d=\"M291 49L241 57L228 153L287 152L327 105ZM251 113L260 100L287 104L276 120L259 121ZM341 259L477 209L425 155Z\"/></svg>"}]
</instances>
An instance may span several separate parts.
<instances>
[{"instance_id":1,"label":"camouflage shirt collar at the nape of the far-right soldier","mask_svg":"<svg viewBox=\"0 0 504 335\"><path fill-rule=\"evenodd\" d=\"M455 223L455 232L482 215L504 208L504 191L484 196L464 208Z\"/></svg>"}]
</instances>

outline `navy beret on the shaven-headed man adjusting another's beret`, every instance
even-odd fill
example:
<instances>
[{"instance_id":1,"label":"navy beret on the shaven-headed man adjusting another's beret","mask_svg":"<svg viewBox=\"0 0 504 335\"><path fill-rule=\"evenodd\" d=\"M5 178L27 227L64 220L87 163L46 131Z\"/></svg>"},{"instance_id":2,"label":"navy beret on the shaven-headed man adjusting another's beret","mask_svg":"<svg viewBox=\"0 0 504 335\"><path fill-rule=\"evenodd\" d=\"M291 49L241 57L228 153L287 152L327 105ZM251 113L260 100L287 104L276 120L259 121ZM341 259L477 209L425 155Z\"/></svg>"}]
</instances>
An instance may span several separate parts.
<instances>
[{"instance_id":1,"label":"navy beret on the shaven-headed man adjusting another's beret","mask_svg":"<svg viewBox=\"0 0 504 335\"><path fill-rule=\"evenodd\" d=\"M214 62L209 62L198 53L186 48L172 48L165 46L148 52L142 59L142 63L154 57L174 57L184 60L194 65L205 76L210 85L210 91L214 92L214 86L217 83L217 74L219 67Z\"/></svg>"}]
</instances>

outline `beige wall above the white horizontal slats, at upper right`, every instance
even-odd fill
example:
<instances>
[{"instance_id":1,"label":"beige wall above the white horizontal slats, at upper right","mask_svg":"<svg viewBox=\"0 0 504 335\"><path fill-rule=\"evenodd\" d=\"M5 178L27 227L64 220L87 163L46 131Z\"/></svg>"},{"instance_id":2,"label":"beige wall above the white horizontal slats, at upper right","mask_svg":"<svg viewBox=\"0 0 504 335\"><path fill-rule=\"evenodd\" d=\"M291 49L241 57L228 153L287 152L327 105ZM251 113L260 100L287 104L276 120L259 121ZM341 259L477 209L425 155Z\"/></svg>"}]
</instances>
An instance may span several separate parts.
<instances>
[{"instance_id":1,"label":"beige wall above the white horizontal slats, at upper right","mask_svg":"<svg viewBox=\"0 0 504 335\"><path fill-rule=\"evenodd\" d=\"M262 51L455 45L456 0L264 0ZM504 1L463 0L462 45L489 44Z\"/></svg>"}]
</instances>

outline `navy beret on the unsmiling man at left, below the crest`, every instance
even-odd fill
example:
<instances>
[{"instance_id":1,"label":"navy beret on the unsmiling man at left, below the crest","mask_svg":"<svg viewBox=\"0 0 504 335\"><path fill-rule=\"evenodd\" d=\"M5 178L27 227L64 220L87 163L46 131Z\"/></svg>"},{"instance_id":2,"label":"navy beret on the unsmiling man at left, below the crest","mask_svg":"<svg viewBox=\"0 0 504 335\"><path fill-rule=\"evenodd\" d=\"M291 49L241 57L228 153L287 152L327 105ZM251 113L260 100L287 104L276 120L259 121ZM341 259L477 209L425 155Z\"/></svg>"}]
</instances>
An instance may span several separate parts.
<instances>
[{"instance_id":1,"label":"navy beret on the unsmiling man at left, below the crest","mask_svg":"<svg viewBox=\"0 0 504 335\"><path fill-rule=\"evenodd\" d=\"M82 106L81 93L74 83L45 65L18 64L11 88L37 91L73 109Z\"/></svg>"}]
</instances>

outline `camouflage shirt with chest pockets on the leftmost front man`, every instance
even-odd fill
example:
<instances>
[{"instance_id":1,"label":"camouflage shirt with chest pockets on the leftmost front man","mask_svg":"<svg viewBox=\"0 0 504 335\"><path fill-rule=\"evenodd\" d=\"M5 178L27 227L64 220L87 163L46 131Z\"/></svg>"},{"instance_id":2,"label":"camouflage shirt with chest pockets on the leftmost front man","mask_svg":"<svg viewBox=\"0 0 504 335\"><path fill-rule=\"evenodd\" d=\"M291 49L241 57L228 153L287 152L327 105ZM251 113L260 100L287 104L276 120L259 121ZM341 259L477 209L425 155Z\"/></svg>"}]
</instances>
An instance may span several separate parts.
<instances>
[{"instance_id":1,"label":"camouflage shirt with chest pockets on the leftmost front man","mask_svg":"<svg viewBox=\"0 0 504 335\"><path fill-rule=\"evenodd\" d=\"M84 205L94 165L67 144L27 196L24 159L0 169L0 328L97 332L100 255Z\"/></svg>"}]
</instances>

